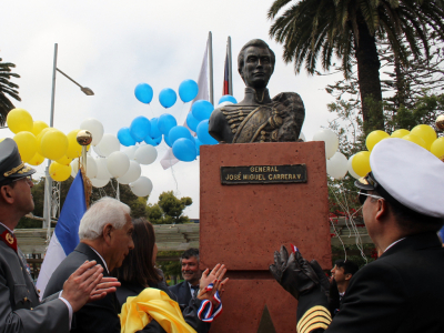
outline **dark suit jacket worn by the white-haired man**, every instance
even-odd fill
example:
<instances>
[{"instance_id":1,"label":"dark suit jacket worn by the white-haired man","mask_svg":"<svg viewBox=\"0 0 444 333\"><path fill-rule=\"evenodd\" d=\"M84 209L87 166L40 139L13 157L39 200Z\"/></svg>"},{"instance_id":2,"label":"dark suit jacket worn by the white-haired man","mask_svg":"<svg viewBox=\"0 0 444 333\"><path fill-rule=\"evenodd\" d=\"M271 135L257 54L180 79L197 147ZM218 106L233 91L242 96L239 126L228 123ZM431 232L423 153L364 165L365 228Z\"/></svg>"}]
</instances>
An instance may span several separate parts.
<instances>
[{"instance_id":1,"label":"dark suit jacket worn by the white-haired man","mask_svg":"<svg viewBox=\"0 0 444 333\"><path fill-rule=\"evenodd\" d=\"M57 268L48 282L44 295L50 295L56 291L63 289L67 279L84 261L95 260L103 266L103 276L110 276L102 260L87 244L79 243L75 250ZM114 293L108 294L104 299L85 304L74 314L71 332L73 333L120 333L120 304Z\"/></svg>"}]
</instances>

